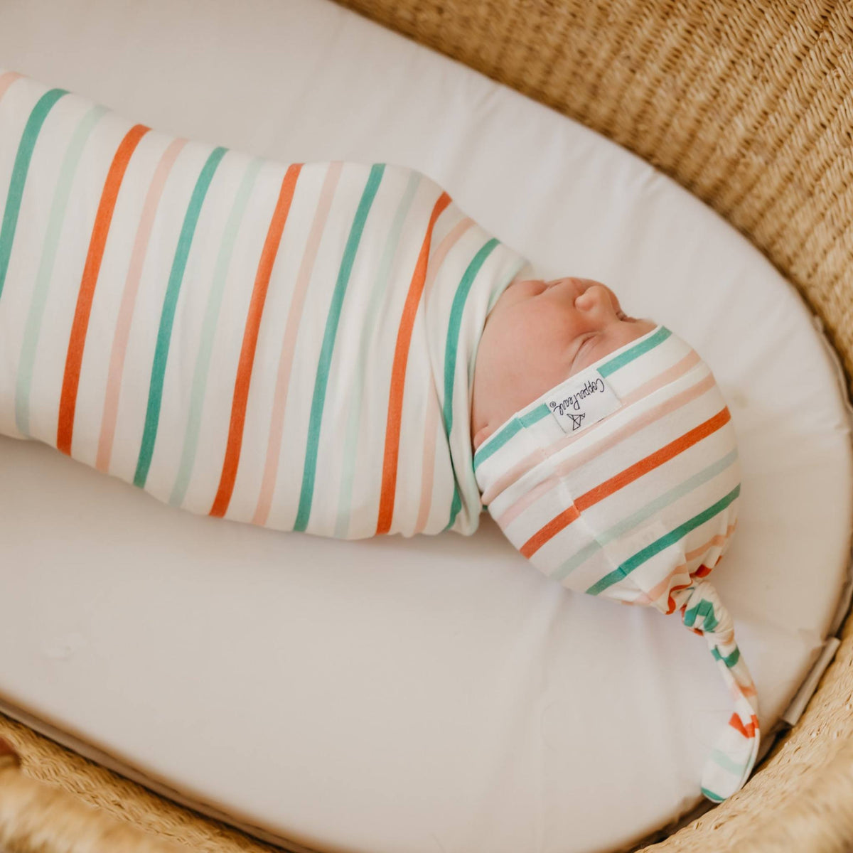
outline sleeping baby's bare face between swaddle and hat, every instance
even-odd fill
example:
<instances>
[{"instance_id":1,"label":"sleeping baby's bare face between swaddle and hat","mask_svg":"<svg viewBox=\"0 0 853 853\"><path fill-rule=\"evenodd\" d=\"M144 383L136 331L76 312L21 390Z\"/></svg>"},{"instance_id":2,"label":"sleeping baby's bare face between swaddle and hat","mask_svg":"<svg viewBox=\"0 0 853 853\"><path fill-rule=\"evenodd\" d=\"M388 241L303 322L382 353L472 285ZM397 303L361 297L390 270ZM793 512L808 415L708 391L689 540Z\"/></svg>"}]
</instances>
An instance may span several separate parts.
<instances>
[{"instance_id":1,"label":"sleeping baby's bare face between swaddle and hat","mask_svg":"<svg viewBox=\"0 0 853 853\"><path fill-rule=\"evenodd\" d=\"M516 279L490 310L480 338L473 449L519 409L656 325L625 316L601 281Z\"/></svg>"}]
</instances>

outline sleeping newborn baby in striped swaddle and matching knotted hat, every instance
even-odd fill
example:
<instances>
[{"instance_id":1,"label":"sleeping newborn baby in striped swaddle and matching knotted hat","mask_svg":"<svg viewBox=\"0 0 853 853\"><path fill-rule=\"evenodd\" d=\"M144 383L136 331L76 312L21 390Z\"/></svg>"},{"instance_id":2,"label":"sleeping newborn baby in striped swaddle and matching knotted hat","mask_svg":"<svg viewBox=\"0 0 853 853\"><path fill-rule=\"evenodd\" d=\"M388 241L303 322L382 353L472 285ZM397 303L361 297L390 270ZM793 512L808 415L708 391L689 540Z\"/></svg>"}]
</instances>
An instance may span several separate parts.
<instances>
[{"instance_id":1,"label":"sleeping newborn baby in striped swaddle and matching knotted hat","mask_svg":"<svg viewBox=\"0 0 853 853\"><path fill-rule=\"evenodd\" d=\"M568 589L676 610L757 755L705 576L734 531L711 370L597 281L542 281L431 178L283 164L0 69L0 432L199 514L316 536L477 530Z\"/></svg>"}]
</instances>

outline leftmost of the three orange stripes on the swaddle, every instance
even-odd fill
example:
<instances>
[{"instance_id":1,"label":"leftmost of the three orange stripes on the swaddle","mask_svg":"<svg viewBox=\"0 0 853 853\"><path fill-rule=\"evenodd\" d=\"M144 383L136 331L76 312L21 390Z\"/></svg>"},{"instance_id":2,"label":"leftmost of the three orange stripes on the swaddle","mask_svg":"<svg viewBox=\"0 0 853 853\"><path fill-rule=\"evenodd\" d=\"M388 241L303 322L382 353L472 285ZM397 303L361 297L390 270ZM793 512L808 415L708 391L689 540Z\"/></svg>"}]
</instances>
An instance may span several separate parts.
<instances>
[{"instance_id":1,"label":"leftmost of the three orange stripes on the swaddle","mask_svg":"<svg viewBox=\"0 0 853 853\"><path fill-rule=\"evenodd\" d=\"M145 136L150 127L133 125L127 131L125 138L119 144L107 172L107 180L101 193L95 224L89 241L89 252L83 268L83 278L77 294L77 307L74 310L74 320L71 326L71 337L68 339L68 353L65 360L65 374L62 377L62 392L59 403L59 425L56 429L56 448L71 456L71 440L74 431L74 411L77 408L77 390L80 384L80 365L83 363L83 351L86 345L86 331L89 328L89 317L92 310L92 299L95 298L95 286L104 247L107 245L110 223L113 221L115 202L119 197L121 182L124 180L127 164L131 160L136 146Z\"/></svg>"}]
</instances>

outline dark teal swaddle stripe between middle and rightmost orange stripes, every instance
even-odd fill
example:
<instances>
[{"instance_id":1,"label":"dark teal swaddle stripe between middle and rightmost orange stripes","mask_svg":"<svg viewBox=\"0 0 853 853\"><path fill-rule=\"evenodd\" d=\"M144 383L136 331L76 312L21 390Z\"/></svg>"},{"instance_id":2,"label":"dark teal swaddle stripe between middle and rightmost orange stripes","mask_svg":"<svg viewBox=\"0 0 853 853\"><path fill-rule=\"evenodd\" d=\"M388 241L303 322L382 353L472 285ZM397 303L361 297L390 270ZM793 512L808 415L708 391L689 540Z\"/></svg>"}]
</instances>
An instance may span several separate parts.
<instances>
[{"instance_id":1,"label":"dark teal swaddle stripe between middle and rightmost orange stripes","mask_svg":"<svg viewBox=\"0 0 853 853\"><path fill-rule=\"evenodd\" d=\"M323 333L322 346L320 349L320 360L317 363L317 374L314 382L314 396L311 399L311 412L308 421L308 442L305 448L305 467L302 473L302 489L299 492L299 509L296 513L296 521L293 524L294 531L305 531L311 514L311 502L314 499L314 478L316 475L317 450L320 445L320 427L322 425L322 410L326 402L326 386L328 385L328 374L332 366L332 352L334 350L334 339L338 331L340 309L344 302L346 285L350 280L352 264L355 262L358 244L362 239L364 223L367 221L370 207L382 181L385 172L384 163L374 163L370 168L368 182L364 187L361 200L358 202L356 217L353 220L350 235L346 240L344 257L338 271L338 281L334 285L332 293L332 304L326 318L326 330Z\"/></svg>"}]
</instances>

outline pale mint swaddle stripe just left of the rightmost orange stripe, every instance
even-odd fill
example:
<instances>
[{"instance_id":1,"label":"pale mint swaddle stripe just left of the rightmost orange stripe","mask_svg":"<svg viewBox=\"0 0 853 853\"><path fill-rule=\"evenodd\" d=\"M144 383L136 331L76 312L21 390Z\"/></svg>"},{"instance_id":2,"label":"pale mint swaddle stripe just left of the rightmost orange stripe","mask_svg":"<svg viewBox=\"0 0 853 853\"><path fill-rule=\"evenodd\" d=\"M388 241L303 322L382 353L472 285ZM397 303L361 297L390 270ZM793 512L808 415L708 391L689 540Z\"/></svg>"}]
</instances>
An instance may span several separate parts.
<instances>
[{"instance_id":1,"label":"pale mint swaddle stripe just left of the rightmost orange stripe","mask_svg":"<svg viewBox=\"0 0 853 853\"><path fill-rule=\"evenodd\" d=\"M367 324L365 331L368 329L377 329L377 318L379 314L380 301L384 299L388 288L388 279L391 273L391 265L394 256L397 253L397 247L400 242L400 233L403 230L403 222L409 213L409 207L415 199L415 192L421 183L423 177L420 171L412 171L409 175L409 183L406 185L403 198L397 206L397 211L394 213L394 220L391 229L388 232L388 237L385 241L385 248L382 251L382 259L380 260L379 271L376 274L376 281L370 293L370 304L366 313ZM362 397L364 376L368 372L368 351L370 345L374 343L374 339L368 334L363 334L361 339L361 348L358 353L356 368L353 370L353 384L351 389L351 405L350 415L346 419L346 438L344 442L344 472L341 477L340 496L338 502L338 517L335 520L334 536L337 539L345 539L346 532L350 526L350 515L352 512L352 480L356 468L356 454L358 450L358 433L361 428L362 421Z\"/></svg>"}]
</instances>

